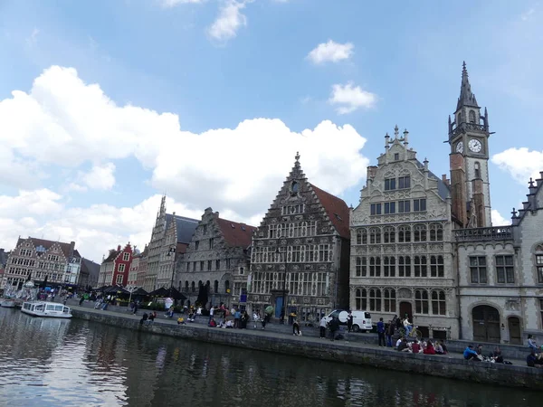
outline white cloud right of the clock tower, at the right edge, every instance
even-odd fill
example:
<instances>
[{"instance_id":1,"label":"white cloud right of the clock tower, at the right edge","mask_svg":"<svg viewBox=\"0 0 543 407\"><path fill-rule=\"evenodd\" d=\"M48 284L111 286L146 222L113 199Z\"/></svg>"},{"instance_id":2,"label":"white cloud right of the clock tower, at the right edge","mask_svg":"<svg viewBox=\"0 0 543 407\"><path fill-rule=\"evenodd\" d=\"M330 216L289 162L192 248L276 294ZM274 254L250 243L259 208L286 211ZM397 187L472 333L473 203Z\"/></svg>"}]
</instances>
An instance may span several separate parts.
<instances>
[{"instance_id":1,"label":"white cloud right of the clock tower, at the right edge","mask_svg":"<svg viewBox=\"0 0 543 407\"><path fill-rule=\"evenodd\" d=\"M492 163L508 172L519 184L527 185L530 177L537 179L539 171L543 171L543 151L513 147L492 156Z\"/></svg>"}]
</instances>

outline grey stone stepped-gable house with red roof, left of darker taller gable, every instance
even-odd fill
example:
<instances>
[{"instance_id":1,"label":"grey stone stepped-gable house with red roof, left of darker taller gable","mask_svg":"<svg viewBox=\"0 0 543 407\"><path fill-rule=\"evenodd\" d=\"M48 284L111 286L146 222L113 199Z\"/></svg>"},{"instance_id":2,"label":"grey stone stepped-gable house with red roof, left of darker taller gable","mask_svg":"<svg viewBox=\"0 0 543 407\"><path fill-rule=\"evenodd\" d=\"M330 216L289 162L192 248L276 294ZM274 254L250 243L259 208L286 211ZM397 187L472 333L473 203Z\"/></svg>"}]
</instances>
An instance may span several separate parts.
<instances>
[{"instance_id":1,"label":"grey stone stepped-gable house with red roof, left of darker taller gable","mask_svg":"<svg viewBox=\"0 0 543 407\"><path fill-rule=\"evenodd\" d=\"M245 305L255 230L254 226L221 219L211 208L205 210L185 254L176 263L176 284L189 304L204 290L211 305Z\"/></svg>"}]
</instances>

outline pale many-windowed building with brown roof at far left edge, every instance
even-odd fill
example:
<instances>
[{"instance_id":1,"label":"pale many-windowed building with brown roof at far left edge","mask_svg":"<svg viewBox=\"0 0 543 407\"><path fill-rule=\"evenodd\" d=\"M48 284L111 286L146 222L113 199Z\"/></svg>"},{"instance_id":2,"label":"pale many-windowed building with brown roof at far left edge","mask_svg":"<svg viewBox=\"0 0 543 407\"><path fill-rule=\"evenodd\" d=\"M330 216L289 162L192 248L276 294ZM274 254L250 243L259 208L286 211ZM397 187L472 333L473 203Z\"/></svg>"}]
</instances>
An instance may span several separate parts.
<instances>
[{"instance_id":1,"label":"pale many-windowed building with brown roof at far left edge","mask_svg":"<svg viewBox=\"0 0 543 407\"><path fill-rule=\"evenodd\" d=\"M23 287L26 279L52 288L72 284L72 276L79 275L81 255L75 250L75 241L48 241L28 237L19 238L5 266L2 289Z\"/></svg>"}]
</instances>

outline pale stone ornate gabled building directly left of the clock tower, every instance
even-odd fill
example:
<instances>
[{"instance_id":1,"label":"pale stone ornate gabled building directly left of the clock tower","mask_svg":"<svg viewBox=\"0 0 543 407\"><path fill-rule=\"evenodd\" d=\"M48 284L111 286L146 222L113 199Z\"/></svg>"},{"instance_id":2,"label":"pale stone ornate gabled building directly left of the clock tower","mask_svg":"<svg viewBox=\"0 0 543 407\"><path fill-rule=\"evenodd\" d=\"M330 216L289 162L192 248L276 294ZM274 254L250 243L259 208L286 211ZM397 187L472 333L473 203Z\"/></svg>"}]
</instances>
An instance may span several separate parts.
<instances>
[{"instance_id":1,"label":"pale stone ornate gabled building directly left of the clock tower","mask_svg":"<svg viewBox=\"0 0 543 407\"><path fill-rule=\"evenodd\" d=\"M449 188L407 137L397 126L386 135L385 154L368 167L351 210L350 308L374 321L408 314L426 335L457 338Z\"/></svg>"}]
</instances>

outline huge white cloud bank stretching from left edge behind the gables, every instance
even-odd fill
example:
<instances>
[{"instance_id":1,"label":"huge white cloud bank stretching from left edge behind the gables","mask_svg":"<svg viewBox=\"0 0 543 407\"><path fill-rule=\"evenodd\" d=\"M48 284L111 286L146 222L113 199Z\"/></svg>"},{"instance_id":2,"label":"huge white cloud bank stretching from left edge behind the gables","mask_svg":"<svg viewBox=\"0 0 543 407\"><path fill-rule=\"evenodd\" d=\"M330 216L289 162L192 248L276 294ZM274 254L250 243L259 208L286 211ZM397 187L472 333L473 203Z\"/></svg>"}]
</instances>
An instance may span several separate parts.
<instances>
[{"instance_id":1,"label":"huge white cloud bank stretching from left edge behind the gables","mask_svg":"<svg viewBox=\"0 0 543 407\"><path fill-rule=\"evenodd\" d=\"M360 154L365 143L352 126L328 120L295 132L280 119L253 118L235 128L195 134L182 130L175 114L118 106L99 85L85 84L77 71L58 66L43 71L28 93L15 90L0 100L0 155L37 173L52 168L62 176L75 174L65 176L61 190L107 190L116 183L113 162L132 157L150 179L130 183L135 190L139 182L167 191L169 213L199 218L211 206L226 219L255 225L291 171L297 151L311 183L341 194L366 173L369 162ZM97 157L105 164L96 164ZM81 170L93 163L89 172ZM3 168L7 178L19 181L10 166ZM43 181L33 178L38 185ZM0 185L5 185L1 178ZM100 260L117 244L148 242L159 205L159 196L123 208L70 208L69 199L40 187L0 196L0 247L13 247L19 235L60 237Z\"/></svg>"}]
</instances>

